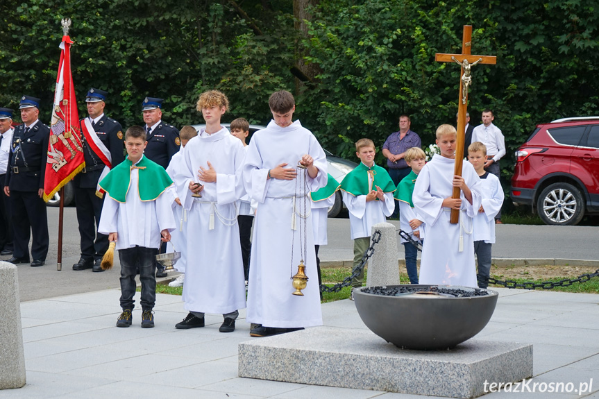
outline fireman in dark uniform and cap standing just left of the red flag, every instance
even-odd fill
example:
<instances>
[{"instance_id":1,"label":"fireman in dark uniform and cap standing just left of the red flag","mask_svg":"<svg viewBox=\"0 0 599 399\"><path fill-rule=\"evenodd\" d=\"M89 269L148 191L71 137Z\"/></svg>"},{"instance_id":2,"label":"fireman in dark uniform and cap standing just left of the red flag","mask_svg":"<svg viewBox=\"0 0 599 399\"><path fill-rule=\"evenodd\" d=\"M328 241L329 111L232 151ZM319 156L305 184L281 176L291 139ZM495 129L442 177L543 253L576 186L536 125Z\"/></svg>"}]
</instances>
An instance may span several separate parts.
<instances>
[{"instance_id":1,"label":"fireman in dark uniform and cap standing just left of the red flag","mask_svg":"<svg viewBox=\"0 0 599 399\"><path fill-rule=\"evenodd\" d=\"M14 251L7 262L29 263L31 231L31 266L42 266L46 262L49 245L43 196L50 128L38 119L40 99L23 96L19 110L23 124L17 126L12 134L4 182L4 193L10 197L14 234Z\"/></svg>"}]
</instances>

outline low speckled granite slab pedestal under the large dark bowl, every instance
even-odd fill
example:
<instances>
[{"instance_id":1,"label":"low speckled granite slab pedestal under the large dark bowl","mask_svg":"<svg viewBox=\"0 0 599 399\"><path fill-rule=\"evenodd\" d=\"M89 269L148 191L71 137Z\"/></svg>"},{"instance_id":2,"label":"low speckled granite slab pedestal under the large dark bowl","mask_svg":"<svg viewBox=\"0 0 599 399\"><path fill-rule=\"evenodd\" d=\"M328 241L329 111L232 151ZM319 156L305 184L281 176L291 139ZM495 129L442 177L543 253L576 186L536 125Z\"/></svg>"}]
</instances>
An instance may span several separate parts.
<instances>
[{"instance_id":1,"label":"low speckled granite slab pedestal under the large dark bowl","mask_svg":"<svg viewBox=\"0 0 599 399\"><path fill-rule=\"evenodd\" d=\"M451 398L532 376L532 345L471 339L404 350L369 330L318 327L239 343L239 377ZM488 385L487 385L488 387Z\"/></svg>"}]
</instances>

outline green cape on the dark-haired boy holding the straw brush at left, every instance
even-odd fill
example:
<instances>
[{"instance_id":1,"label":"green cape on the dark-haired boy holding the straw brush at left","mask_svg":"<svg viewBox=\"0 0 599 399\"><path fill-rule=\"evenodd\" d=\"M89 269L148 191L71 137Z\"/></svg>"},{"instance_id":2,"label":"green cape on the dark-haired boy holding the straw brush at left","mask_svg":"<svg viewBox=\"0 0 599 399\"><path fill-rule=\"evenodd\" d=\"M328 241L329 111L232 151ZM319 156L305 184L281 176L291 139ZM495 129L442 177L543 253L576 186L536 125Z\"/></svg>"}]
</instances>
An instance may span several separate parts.
<instances>
[{"instance_id":1,"label":"green cape on the dark-haired boy holding the straw brush at left","mask_svg":"<svg viewBox=\"0 0 599 399\"><path fill-rule=\"evenodd\" d=\"M126 160L112 168L110 173L99 183L100 188L113 200L125 203L131 185L131 170L134 168L139 169L137 193L140 195L141 201L154 201L167 187L173 184L173 180L171 180L167 171L144 155L135 166L129 158L126 158Z\"/></svg>"}]
</instances>

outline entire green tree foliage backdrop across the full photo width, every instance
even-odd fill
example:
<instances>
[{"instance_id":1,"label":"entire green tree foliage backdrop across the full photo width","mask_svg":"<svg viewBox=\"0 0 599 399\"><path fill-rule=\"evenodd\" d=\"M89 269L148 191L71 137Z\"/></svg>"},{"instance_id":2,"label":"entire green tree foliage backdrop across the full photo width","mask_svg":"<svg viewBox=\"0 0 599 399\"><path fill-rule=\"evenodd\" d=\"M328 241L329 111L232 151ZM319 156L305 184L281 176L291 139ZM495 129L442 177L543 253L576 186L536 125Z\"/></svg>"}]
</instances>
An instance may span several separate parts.
<instances>
[{"instance_id":1,"label":"entire green tree foliage backdrop across the full photo width","mask_svg":"<svg viewBox=\"0 0 599 399\"><path fill-rule=\"evenodd\" d=\"M265 124L269 94L299 87L296 116L330 151L353 158L360 137L382 146L403 113L428 145L439 124L455 124L459 67L435 62L435 53L460 53L464 24L474 28L473 53L498 62L473 68L471 122L484 108L495 112L507 159L535 124L599 106L593 2L321 0L303 43L304 61L321 73L305 85L291 72L301 37L292 0L5 0L0 10L0 106L39 96L44 121L62 17L73 21L81 115L85 92L98 87L110 92L106 111L124 126L142 123L145 96L167 100L165 121L199 123L197 96L212 88L230 98L226 120Z\"/></svg>"}]
</instances>

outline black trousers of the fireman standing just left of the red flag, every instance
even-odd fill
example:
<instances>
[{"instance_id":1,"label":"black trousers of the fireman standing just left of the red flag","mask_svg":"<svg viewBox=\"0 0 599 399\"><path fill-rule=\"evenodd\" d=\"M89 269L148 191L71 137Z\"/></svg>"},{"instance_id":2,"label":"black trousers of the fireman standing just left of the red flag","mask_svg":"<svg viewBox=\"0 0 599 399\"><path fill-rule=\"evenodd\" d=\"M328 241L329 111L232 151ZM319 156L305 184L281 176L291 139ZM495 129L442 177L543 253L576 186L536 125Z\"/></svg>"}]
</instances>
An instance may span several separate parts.
<instances>
[{"instance_id":1,"label":"black trousers of the fireman standing just left of the red flag","mask_svg":"<svg viewBox=\"0 0 599 399\"><path fill-rule=\"evenodd\" d=\"M48 255L48 214L46 203L36 192L10 190L12 232L15 251L12 256L29 259L30 231L33 235L31 256L34 260L46 260Z\"/></svg>"}]
</instances>

